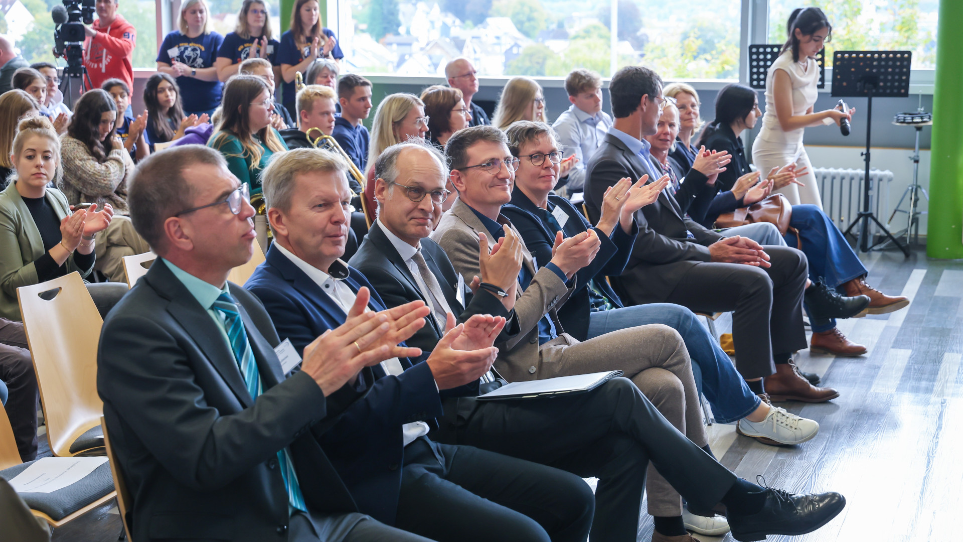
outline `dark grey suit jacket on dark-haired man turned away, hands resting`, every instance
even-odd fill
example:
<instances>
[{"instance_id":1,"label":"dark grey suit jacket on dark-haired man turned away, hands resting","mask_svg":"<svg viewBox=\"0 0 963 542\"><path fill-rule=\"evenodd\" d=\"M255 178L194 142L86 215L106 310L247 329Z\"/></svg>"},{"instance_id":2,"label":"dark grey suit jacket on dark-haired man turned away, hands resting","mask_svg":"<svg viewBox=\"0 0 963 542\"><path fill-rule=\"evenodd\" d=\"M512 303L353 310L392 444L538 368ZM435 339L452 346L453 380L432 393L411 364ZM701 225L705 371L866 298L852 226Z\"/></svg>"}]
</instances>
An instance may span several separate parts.
<instances>
[{"instance_id":1,"label":"dark grey suit jacket on dark-haired man turned away, hands resting","mask_svg":"<svg viewBox=\"0 0 963 542\"><path fill-rule=\"evenodd\" d=\"M617 137L607 134L586 165L586 207L598 222L606 188L623 176L638 178L654 170ZM653 178L649 179L652 182ZM618 283L629 296L623 302L661 303L683 274L700 261L710 261L708 245L723 235L706 230L685 216L675 198L664 190L659 199L636 213L638 236L632 256ZM689 239L686 231L694 239Z\"/></svg>"}]
</instances>

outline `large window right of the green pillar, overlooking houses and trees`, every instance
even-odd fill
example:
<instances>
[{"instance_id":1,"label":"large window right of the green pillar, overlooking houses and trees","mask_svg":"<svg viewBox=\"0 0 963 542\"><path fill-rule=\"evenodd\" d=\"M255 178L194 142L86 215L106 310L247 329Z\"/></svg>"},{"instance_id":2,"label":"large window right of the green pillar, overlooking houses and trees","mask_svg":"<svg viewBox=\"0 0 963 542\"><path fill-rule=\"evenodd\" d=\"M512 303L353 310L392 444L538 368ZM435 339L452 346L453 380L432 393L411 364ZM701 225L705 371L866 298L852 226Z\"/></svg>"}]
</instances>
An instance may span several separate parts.
<instances>
[{"instance_id":1,"label":"large window right of the green pillar, overlooking houses and trees","mask_svg":"<svg viewBox=\"0 0 963 542\"><path fill-rule=\"evenodd\" d=\"M465 56L481 75L565 75L585 67L608 76L611 2L351 0L353 28L340 29L341 45L358 71L439 75ZM616 64L645 63L666 77L736 78L739 28L740 0L698 10L618 0Z\"/></svg>"}]
</instances>

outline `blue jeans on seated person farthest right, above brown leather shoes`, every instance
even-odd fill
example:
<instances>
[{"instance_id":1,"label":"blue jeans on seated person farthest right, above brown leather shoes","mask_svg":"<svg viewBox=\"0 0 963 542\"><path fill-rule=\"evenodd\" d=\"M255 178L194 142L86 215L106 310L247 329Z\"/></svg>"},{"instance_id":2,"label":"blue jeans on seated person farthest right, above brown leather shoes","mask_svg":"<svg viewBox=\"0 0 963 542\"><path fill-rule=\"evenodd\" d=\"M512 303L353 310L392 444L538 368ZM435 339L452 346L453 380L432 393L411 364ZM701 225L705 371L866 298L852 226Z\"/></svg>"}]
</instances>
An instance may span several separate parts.
<instances>
[{"instance_id":1,"label":"blue jeans on seated person farthest right, above brown leather shoes","mask_svg":"<svg viewBox=\"0 0 963 542\"><path fill-rule=\"evenodd\" d=\"M789 225L799 230L799 241L792 232L785 235L786 243L801 250L809 259L809 278L813 282L824 280L825 285L835 288L857 277L866 275L866 267L852 252L843 232L816 205L793 205ZM800 245L801 246L797 246ZM806 308L809 312L809 308ZM829 331L836 327L836 320L814 320L809 323L814 332Z\"/></svg>"}]
</instances>

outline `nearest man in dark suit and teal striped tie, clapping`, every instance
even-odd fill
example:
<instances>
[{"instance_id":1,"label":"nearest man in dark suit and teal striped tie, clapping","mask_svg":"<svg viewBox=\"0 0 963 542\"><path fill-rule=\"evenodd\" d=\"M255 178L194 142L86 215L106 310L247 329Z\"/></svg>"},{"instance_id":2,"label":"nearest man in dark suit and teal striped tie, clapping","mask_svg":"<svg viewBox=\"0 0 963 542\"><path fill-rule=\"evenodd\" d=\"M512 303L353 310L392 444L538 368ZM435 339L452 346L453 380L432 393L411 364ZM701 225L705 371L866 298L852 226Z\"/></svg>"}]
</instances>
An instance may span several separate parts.
<instances>
[{"instance_id":1,"label":"nearest man in dark suit and teal striped tie, clapping","mask_svg":"<svg viewBox=\"0 0 963 542\"><path fill-rule=\"evenodd\" d=\"M254 209L221 154L189 145L151 155L128 202L160 257L104 322L97 392L133 498L134 539L424 542L358 513L318 439L351 405L384 392L367 366L419 353L384 338L410 336L427 310L352 308L285 378L271 318L226 283L251 256ZM409 403L397 417L428 410L430 396ZM391 420L363 421L378 430Z\"/></svg>"}]
</instances>

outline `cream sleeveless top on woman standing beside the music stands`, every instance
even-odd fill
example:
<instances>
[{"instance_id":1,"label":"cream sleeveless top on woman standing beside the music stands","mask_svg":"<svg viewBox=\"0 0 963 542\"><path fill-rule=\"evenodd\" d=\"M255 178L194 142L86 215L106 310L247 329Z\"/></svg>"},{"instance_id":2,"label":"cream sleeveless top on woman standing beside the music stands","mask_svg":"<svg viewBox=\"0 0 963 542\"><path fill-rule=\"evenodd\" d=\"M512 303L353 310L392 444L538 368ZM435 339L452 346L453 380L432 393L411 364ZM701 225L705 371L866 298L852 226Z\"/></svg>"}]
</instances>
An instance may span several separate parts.
<instances>
[{"instance_id":1,"label":"cream sleeveless top on woman standing beside the music stands","mask_svg":"<svg viewBox=\"0 0 963 542\"><path fill-rule=\"evenodd\" d=\"M782 69L789 74L793 86L793 115L805 115L806 111L816 103L819 95L820 66L815 59L806 59L806 68L793 61L793 51L789 50L779 55L779 58L769 67L766 78L766 113L763 115L763 128L759 138L771 143L799 144L802 143L802 132L805 128L785 131L779 125L776 117L776 100L772 94L775 84L776 69Z\"/></svg>"}]
</instances>

